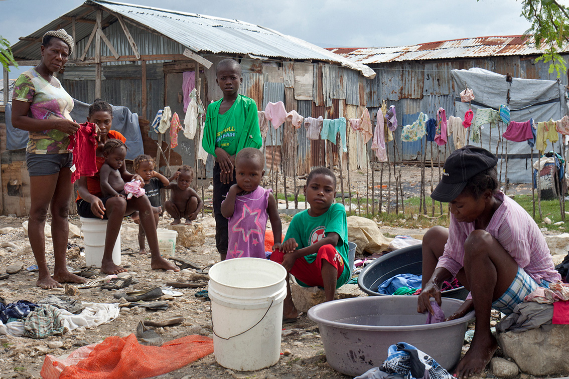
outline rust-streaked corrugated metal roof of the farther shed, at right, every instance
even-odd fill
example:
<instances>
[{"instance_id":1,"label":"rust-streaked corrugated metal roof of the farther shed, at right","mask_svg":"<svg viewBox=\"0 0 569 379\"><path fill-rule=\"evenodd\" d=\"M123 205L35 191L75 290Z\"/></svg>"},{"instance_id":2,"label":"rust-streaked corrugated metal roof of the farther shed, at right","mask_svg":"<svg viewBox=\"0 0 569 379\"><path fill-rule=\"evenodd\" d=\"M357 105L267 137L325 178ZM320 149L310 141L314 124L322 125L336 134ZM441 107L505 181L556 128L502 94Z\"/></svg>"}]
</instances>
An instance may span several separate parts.
<instances>
[{"instance_id":1,"label":"rust-streaked corrugated metal roof of the farther shed, at right","mask_svg":"<svg viewBox=\"0 0 569 379\"><path fill-rule=\"evenodd\" d=\"M527 44L527 41L530 44ZM399 47L329 48L328 50L362 64L543 53L534 46L533 36L524 39L522 35L463 38ZM561 50L561 52L567 51L569 45Z\"/></svg>"}]
</instances>

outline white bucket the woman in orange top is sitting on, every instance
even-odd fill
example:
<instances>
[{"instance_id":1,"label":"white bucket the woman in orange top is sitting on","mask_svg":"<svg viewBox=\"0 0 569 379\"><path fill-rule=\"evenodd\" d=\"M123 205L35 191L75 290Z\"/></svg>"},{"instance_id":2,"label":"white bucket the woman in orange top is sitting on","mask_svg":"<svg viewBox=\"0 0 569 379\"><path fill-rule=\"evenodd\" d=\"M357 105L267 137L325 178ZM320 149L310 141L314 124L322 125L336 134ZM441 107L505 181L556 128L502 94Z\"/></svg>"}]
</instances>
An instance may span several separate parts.
<instances>
[{"instance_id":1,"label":"white bucket the woman in orange top is sitting on","mask_svg":"<svg viewBox=\"0 0 569 379\"><path fill-rule=\"evenodd\" d=\"M81 217L83 240L85 243L85 264L87 266L101 267L103 253L105 252L105 236L107 220ZM121 264L121 231L118 231L117 240L113 247L113 262Z\"/></svg>"}]
</instances>

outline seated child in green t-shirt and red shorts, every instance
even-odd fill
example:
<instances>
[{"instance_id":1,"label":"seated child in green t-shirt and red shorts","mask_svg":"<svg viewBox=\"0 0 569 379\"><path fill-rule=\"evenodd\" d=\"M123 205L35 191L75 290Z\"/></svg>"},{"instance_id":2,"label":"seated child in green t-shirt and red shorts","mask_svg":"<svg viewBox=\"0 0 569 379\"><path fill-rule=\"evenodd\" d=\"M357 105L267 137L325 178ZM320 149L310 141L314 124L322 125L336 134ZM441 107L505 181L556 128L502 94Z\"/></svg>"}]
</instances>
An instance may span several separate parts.
<instances>
[{"instance_id":1,"label":"seated child in green t-shirt and red shorts","mask_svg":"<svg viewBox=\"0 0 569 379\"><path fill-rule=\"evenodd\" d=\"M331 301L336 288L350 280L346 211L343 205L332 203L336 197L336 176L324 167L312 170L304 195L310 209L292 218L282 251L275 250L271 260L282 264L298 284L324 287L326 301ZM283 322L292 322L298 311L292 302L288 274L286 281Z\"/></svg>"}]
</instances>

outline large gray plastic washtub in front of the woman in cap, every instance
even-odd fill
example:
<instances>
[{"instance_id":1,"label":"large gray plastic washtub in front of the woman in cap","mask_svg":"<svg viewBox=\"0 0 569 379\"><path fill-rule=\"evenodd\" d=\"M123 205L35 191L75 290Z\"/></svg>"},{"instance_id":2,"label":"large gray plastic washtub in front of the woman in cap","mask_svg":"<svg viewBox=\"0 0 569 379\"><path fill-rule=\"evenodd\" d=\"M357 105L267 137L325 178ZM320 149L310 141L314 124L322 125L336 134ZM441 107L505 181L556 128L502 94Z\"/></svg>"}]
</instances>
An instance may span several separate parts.
<instances>
[{"instance_id":1,"label":"large gray plastic washtub in front of the woman in cap","mask_svg":"<svg viewBox=\"0 0 569 379\"><path fill-rule=\"evenodd\" d=\"M442 298L446 316L463 302ZM308 310L318 323L326 359L333 369L358 376L387 359L387 348L398 342L414 345L447 370L460 359L464 333L474 311L462 318L425 325L417 313L416 296L373 296L321 303Z\"/></svg>"}]
</instances>

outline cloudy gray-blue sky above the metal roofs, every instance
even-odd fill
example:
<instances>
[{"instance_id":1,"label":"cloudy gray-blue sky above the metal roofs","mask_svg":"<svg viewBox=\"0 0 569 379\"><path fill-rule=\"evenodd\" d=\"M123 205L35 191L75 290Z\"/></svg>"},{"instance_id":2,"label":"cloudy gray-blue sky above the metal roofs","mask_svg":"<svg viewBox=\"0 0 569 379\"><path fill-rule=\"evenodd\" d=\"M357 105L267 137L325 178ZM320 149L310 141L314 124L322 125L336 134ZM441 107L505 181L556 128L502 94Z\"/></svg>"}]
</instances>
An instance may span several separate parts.
<instances>
[{"instance_id":1,"label":"cloudy gray-blue sky above the metal roofs","mask_svg":"<svg viewBox=\"0 0 569 379\"><path fill-rule=\"evenodd\" d=\"M321 47L384 47L523 34L521 0L123 0L238 19ZM14 44L82 0L0 0L0 35ZM10 77L17 76L16 73Z\"/></svg>"}]
</instances>

